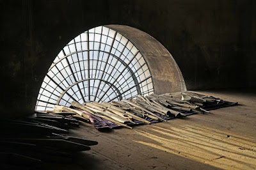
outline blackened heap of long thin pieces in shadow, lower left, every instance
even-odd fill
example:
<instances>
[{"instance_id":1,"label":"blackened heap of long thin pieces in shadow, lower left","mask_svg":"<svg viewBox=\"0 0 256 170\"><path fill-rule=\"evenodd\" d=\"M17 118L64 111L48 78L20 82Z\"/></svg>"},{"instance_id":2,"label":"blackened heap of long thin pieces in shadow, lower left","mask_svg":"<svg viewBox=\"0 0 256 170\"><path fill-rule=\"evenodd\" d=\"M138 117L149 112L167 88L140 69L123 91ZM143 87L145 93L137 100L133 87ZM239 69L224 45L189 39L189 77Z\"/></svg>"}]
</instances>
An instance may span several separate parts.
<instances>
[{"instance_id":1,"label":"blackened heap of long thin pieces in shadow, lower left","mask_svg":"<svg viewBox=\"0 0 256 170\"><path fill-rule=\"evenodd\" d=\"M71 164L79 151L96 141L67 136L79 126L74 113L35 112L31 118L0 120L1 169L36 169L47 164Z\"/></svg>"}]
</instances>

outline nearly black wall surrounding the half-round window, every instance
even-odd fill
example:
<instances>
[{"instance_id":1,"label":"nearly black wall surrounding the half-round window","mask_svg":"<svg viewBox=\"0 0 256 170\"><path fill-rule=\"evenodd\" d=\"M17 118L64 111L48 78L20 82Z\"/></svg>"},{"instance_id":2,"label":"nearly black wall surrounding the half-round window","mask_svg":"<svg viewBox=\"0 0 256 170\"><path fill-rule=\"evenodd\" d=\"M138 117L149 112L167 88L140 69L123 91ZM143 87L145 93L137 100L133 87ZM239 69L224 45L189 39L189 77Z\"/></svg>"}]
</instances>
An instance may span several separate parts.
<instances>
[{"instance_id":1,"label":"nearly black wall surrounding the half-round window","mask_svg":"<svg viewBox=\"0 0 256 170\"><path fill-rule=\"evenodd\" d=\"M136 27L170 51L188 89L255 86L253 0L0 0L1 113L33 112L47 69L79 33Z\"/></svg>"}]
</instances>

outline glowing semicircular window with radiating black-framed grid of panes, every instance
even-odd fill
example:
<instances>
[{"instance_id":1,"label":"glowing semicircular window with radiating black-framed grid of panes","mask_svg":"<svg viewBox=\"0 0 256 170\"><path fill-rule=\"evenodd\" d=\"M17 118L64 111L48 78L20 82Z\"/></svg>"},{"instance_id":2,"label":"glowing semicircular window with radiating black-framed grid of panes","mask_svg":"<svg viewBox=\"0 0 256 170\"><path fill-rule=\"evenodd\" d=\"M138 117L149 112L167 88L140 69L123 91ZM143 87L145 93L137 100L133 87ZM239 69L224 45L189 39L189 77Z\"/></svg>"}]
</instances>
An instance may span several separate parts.
<instances>
[{"instance_id":1,"label":"glowing semicircular window with radiating black-framed grid of panes","mask_svg":"<svg viewBox=\"0 0 256 170\"><path fill-rule=\"evenodd\" d=\"M71 40L54 59L40 88L36 111L74 100L109 102L154 92L140 50L125 36L99 26Z\"/></svg>"}]
</instances>

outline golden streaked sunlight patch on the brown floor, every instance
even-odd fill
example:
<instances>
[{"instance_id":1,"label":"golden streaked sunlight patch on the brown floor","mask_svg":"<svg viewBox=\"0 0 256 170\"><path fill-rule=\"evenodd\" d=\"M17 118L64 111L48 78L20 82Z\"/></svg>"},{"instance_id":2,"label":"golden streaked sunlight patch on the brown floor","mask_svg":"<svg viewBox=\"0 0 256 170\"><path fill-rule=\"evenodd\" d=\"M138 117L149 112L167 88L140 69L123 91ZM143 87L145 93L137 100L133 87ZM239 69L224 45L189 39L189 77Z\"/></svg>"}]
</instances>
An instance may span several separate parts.
<instances>
[{"instance_id":1,"label":"golden streaked sunlight patch on the brown floor","mask_svg":"<svg viewBox=\"0 0 256 170\"><path fill-rule=\"evenodd\" d=\"M136 141L222 169L255 169L255 139L198 125L181 125L168 129L152 125L150 130L136 130L151 142Z\"/></svg>"}]
</instances>

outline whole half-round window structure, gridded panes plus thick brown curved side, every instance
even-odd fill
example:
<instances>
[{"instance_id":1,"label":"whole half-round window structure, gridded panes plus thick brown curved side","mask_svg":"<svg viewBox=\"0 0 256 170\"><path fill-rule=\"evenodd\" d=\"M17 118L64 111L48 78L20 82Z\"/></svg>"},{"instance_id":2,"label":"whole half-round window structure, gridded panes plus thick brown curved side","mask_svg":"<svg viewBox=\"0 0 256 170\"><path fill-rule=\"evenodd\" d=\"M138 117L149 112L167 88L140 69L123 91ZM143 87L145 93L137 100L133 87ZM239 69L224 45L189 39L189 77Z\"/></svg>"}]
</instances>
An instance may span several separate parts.
<instances>
[{"instance_id":1,"label":"whole half-round window structure, gridded panes plus thick brown curved side","mask_svg":"<svg viewBox=\"0 0 256 170\"><path fill-rule=\"evenodd\" d=\"M106 39L106 42L104 41L104 38ZM107 48L108 52L106 51L106 47L109 47L109 49ZM124 52L125 50L127 54ZM91 51L95 51L96 53L91 53ZM86 52L86 56L81 52ZM108 55L105 59L103 58L103 53L102 58L100 58L100 52L103 52L104 54L107 52ZM77 56L77 53L81 55ZM73 56L73 54L76 55ZM119 57L115 56L115 54ZM128 56L128 54L130 54L130 56ZM109 60L110 56L116 58L116 61L112 61L112 59ZM138 58L136 58L136 56L138 56ZM67 59L68 57L70 57L70 61ZM64 62L65 64L63 65L62 61L66 61L67 63ZM85 63L87 64L85 64L85 67L84 61L86 61ZM100 65L98 65L99 61L104 62L105 64L101 65L100 63ZM120 61L124 66L118 67L116 72L113 72L117 61ZM75 63L78 64L75 66ZM94 73L93 65L95 65ZM109 70L107 65L112 65L113 68ZM133 71L130 66L134 67L135 70ZM140 71L138 72L139 68ZM70 105L70 100L76 102L81 102L81 100L83 100L83 102L87 102L96 101L96 98L99 98L99 101L97 102L104 102L104 100L106 100L106 98L104 98L106 95L111 96L109 101L118 96L120 96L120 100L122 99L121 93L113 96L113 92L109 92L109 89L112 86L109 86L107 89L104 88L105 84L108 84L109 82L109 78L105 75L107 72L111 72L113 75L118 73L117 77L113 80L113 85L115 85L118 83L117 81L122 73L124 73L125 69L128 69L131 73L130 78L132 77L132 82L136 85L136 93L134 94L133 91L129 91L130 96L127 96L129 98L136 97L136 95L143 95L141 90L148 91L147 95L150 95L150 93L153 92L161 94L186 90L186 85L182 73L179 70L179 66L177 66L177 63L170 52L168 52L168 50L166 50L155 38L134 27L122 25L99 26L89 29L70 40L70 42L63 47L58 56L56 56L56 59L54 59L42 82L35 110L45 111L46 109L53 109L54 104L52 103L54 103L54 101L56 104L65 106ZM100 73L101 71L103 71L103 73ZM66 79L66 75L72 75L73 79ZM126 73L124 73L124 75L126 75ZM150 77L150 80L142 82L141 79L145 79L146 77ZM77 85L78 82L84 81L85 79L88 80L88 84L83 84L83 87ZM91 79L99 80L98 84L93 82L92 89L92 84L90 84ZM127 82L128 79L128 77L122 77L119 80ZM140 81L140 84L138 81ZM129 84L130 83L131 82L129 82ZM53 84L56 85L56 88L52 88ZM76 84L78 90L74 91L74 89L72 89L72 94L69 94L67 89L71 88L74 84ZM100 84L102 86L100 86ZM129 84L127 83L125 86L119 86L120 90L123 88L126 89L127 87L130 88ZM66 87L66 89L61 86ZM52 93L60 93L56 90L57 87L63 90L60 97L58 97L58 100L50 96L48 97L47 91L49 91L49 89L52 89ZM82 93L81 88L86 88L88 90L88 98L86 98L86 91L84 90L84 93ZM98 93L99 88L104 89L104 91ZM64 96L66 93L67 95ZM91 96L94 97L93 100L90 98ZM65 99L62 99L63 97L65 97ZM68 97L70 98L68 99ZM63 103L61 101L65 102Z\"/></svg>"}]
</instances>

